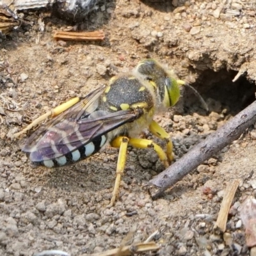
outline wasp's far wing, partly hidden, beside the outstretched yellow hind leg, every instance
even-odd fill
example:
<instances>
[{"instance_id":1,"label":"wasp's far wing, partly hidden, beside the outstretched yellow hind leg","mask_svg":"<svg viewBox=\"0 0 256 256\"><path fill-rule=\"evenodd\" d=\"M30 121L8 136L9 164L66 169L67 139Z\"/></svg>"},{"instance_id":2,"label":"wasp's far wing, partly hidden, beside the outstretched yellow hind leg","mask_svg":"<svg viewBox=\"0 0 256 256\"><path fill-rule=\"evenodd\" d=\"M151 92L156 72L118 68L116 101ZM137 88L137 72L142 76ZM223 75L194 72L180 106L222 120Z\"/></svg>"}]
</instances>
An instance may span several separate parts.
<instances>
[{"instance_id":1,"label":"wasp's far wing, partly hidden, beside the outstretched yellow hind leg","mask_svg":"<svg viewBox=\"0 0 256 256\"><path fill-rule=\"evenodd\" d=\"M95 109L99 106L99 96L105 90L105 88L98 88L93 92L89 93L85 97L81 98L79 102L74 104L74 106L63 111L58 116L51 118L48 122L41 125L26 141L22 151L24 152L33 152L35 150L36 144L42 139L45 135L45 132L49 131L51 127L54 127L57 124L62 123L64 120L73 122L84 118L86 115L93 113Z\"/></svg>"}]
</instances>

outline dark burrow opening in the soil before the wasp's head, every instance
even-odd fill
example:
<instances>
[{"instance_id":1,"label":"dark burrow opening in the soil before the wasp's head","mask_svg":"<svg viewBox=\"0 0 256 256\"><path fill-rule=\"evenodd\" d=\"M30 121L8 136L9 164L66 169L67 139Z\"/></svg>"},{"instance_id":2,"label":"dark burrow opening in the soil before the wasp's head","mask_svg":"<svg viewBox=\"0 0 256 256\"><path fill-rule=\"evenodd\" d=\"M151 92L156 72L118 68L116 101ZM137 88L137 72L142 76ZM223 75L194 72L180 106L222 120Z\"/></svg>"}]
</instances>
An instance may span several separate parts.
<instances>
[{"instance_id":1,"label":"dark burrow opening in the soil before the wasp's head","mask_svg":"<svg viewBox=\"0 0 256 256\"><path fill-rule=\"evenodd\" d=\"M236 81L232 81L236 77L237 71L222 69L218 72L213 70L205 70L196 79L196 82L191 84L209 105L209 112L220 109L227 109L232 116L239 113L255 100L256 84L249 81L246 74L240 76ZM200 100L193 95L193 92L186 88L184 90L184 112L202 112L205 115L206 111L202 109ZM199 109L199 110L198 110ZM202 110L200 110L202 109Z\"/></svg>"}]
</instances>

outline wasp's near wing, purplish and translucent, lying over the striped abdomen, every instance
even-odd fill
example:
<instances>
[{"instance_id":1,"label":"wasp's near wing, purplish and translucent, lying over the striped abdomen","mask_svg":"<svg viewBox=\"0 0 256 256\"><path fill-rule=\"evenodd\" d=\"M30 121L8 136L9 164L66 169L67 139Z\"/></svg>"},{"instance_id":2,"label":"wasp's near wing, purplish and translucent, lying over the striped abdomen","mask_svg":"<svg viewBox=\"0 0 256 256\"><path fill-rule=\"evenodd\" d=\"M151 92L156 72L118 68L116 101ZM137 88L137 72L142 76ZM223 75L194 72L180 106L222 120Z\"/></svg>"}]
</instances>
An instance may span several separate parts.
<instances>
[{"instance_id":1,"label":"wasp's near wing, purplish and translucent, lying over the striped abdomen","mask_svg":"<svg viewBox=\"0 0 256 256\"><path fill-rule=\"evenodd\" d=\"M97 140L103 134L107 134L127 122L132 122L140 114L132 110L125 110L115 113L95 111L92 115L92 117L88 116L81 120L64 120L49 128L36 146L29 150L31 161L40 162L65 156L91 141ZM106 143L106 136L104 138L104 143Z\"/></svg>"}]
</instances>

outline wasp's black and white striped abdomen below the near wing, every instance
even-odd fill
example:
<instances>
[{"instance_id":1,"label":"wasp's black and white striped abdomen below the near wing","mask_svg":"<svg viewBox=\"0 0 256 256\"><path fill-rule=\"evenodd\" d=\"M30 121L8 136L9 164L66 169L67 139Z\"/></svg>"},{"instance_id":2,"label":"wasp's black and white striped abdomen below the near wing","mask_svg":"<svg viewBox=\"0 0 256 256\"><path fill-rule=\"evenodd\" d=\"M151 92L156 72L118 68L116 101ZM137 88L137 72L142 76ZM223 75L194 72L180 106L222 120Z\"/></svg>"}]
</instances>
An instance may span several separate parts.
<instances>
[{"instance_id":1,"label":"wasp's black and white striped abdomen below the near wing","mask_svg":"<svg viewBox=\"0 0 256 256\"><path fill-rule=\"evenodd\" d=\"M33 163L36 165L43 165L47 168L74 164L77 161L81 161L86 157L92 156L93 154L97 153L100 150L100 148L102 148L106 144L106 141L107 141L106 135L98 136L92 141L90 141L90 143L87 143L86 145L83 145L74 151L71 151L72 145L66 145L66 147L70 148L70 152L68 152L64 156L56 157L56 158L52 158L52 159L44 160L40 162L33 161ZM60 151L61 151L61 148L60 148ZM56 156L58 156L58 154L56 154Z\"/></svg>"}]
</instances>

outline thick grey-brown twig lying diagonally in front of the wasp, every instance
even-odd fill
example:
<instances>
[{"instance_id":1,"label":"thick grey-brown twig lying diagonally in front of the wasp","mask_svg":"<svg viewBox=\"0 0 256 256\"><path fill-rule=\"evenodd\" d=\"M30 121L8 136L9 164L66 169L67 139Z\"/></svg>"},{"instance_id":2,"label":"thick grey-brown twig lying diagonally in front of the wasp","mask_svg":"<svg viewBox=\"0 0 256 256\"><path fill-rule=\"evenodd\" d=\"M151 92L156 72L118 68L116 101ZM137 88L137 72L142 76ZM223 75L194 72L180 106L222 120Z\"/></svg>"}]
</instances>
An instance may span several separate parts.
<instances>
[{"instance_id":1,"label":"thick grey-brown twig lying diagonally in front of the wasp","mask_svg":"<svg viewBox=\"0 0 256 256\"><path fill-rule=\"evenodd\" d=\"M186 155L173 163L164 172L160 173L151 184L157 187L157 191L152 193L152 198L156 199L185 175L194 170L199 164L204 163L214 154L226 147L232 141L237 140L243 132L256 122L256 101L243 109L232 120L220 127L216 132L207 136L207 138L195 145Z\"/></svg>"}]
</instances>

